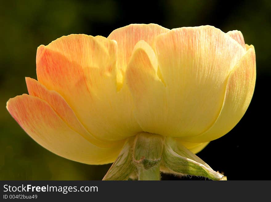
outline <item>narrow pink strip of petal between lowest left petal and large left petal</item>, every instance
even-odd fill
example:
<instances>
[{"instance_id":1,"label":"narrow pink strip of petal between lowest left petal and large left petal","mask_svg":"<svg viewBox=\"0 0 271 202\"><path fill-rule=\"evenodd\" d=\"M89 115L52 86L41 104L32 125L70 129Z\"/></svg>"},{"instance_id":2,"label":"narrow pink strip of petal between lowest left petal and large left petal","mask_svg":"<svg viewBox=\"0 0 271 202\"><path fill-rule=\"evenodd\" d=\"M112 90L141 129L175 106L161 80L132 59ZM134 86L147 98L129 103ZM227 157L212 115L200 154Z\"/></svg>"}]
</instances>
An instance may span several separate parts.
<instances>
[{"instance_id":1,"label":"narrow pink strip of petal between lowest left petal and large left petal","mask_svg":"<svg viewBox=\"0 0 271 202\"><path fill-rule=\"evenodd\" d=\"M45 100L50 106L55 110L61 119L74 131L82 135L92 144L98 147L112 147L114 142L104 142L96 139L91 135L85 127L77 119L75 113L72 111L71 107L67 104L64 98L56 91L49 91L44 85L39 83L35 79L26 77L26 85L29 95L39 97Z\"/></svg>"}]
</instances>

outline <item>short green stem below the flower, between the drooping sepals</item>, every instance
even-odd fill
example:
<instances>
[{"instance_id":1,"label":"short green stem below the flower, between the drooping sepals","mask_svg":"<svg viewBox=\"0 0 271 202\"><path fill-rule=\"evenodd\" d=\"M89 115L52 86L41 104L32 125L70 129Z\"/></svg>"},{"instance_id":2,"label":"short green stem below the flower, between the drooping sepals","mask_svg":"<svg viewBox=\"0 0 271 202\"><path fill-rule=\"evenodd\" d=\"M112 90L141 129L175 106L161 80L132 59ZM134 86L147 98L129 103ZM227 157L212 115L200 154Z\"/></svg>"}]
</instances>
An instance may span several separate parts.
<instances>
[{"instance_id":1,"label":"short green stem below the flower, between the drooping sepals","mask_svg":"<svg viewBox=\"0 0 271 202\"><path fill-rule=\"evenodd\" d=\"M138 180L160 180L160 164L152 168L138 168Z\"/></svg>"}]
</instances>

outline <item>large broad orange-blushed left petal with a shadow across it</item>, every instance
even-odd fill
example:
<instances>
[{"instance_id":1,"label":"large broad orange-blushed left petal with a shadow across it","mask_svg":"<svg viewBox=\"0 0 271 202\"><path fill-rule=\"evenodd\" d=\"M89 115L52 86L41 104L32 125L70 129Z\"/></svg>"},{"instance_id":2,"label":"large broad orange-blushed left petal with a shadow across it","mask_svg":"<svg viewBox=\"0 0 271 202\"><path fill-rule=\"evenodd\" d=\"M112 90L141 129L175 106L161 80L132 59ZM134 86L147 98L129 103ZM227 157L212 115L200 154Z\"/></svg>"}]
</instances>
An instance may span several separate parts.
<instances>
[{"instance_id":1,"label":"large broad orange-blushed left petal with a shadow across it","mask_svg":"<svg viewBox=\"0 0 271 202\"><path fill-rule=\"evenodd\" d=\"M73 34L37 51L38 81L67 101L96 139L120 140L141 131L127 88L117 92L114 40Z\"/></svg>"}]
</instances>

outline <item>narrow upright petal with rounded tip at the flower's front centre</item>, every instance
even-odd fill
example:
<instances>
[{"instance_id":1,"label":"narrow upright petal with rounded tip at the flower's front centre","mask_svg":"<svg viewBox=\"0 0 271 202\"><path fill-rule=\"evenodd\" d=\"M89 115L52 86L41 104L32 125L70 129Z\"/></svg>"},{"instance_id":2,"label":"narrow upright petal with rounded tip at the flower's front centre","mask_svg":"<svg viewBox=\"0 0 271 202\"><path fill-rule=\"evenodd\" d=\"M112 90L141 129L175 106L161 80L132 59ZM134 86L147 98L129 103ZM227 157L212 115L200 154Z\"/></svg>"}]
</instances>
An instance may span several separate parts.
<instances>
[{"instance_id":1,"label":"narrow upright petal with rounded tip at the flower's front centre","mask_svg":"<svg viewBox=\"0 0 271 202\"><path fill-rule=\"evenodd\" d=\"M142 40L136 44L127 65L126 79L135 103L134 114L142 130L164 134L167 104L165 86L156 74L157 67L154 51Z\"/></svg>"}]
</instances>

